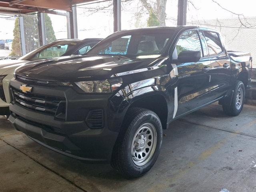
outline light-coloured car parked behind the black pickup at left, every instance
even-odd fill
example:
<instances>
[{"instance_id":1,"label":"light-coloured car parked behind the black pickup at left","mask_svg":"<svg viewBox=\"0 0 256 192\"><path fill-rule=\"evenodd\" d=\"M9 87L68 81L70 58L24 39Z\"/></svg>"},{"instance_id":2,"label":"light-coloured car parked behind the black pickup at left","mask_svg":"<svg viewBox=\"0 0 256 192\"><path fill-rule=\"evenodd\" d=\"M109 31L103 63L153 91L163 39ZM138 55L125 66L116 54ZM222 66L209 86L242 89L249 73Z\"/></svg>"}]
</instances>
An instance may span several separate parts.
<instances>
[{"instance_id":1,"label":"light-coloured car parked behind the black pickup at left","mask_svg":"<svg viewBox=\"0 0 256 192\"><path fill-rule=\"evenodd\" d=\"M30 61L40 60L46 62L52 58L70 55L84 55L90 48L100 42L100 38L79 39L61 39L45 44L27 53L18 59L0 60L0 115L8 115L10 95L9 82L13 78L14 70Z\"/></svg>"}]
</instances>

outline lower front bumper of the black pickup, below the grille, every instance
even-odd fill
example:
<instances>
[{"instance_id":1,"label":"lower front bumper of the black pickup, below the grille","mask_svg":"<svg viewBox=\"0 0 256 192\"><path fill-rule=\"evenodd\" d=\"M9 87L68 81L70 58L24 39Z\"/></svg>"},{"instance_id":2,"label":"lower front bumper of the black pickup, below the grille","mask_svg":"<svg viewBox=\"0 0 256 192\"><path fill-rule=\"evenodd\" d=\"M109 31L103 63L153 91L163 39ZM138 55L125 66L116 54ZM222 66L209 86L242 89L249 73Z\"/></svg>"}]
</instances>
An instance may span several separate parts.
<instances>
[{"instance_id":1,"label":"lower front bumper of the black pickup, below the grille","mask_svg":"<svg viewBox=\"0 0 256 192\"><path fill-rule=\"evenodd\" d=\"M64 127L70 128L74 133L70 135L56 133L51 127L27 120L28 118L26 119L26 117L32 112L25 112L24 110L26 109L20 107L17 110L17 107L15 109L13 106L10 107L12 110L12 114L9 117L11 124L18 131L23 132L36 142L56 152L80 160L110 161L112 148L117 137L116 132L108 129L86 129L84 122L62 122L59 124L60 129ZM52 121L54 120L48 119L49 123ZM81 127L84 128L84 131L79 131ZM76 130L78 131L76 132Z\"/></svg>"}]
</instances>

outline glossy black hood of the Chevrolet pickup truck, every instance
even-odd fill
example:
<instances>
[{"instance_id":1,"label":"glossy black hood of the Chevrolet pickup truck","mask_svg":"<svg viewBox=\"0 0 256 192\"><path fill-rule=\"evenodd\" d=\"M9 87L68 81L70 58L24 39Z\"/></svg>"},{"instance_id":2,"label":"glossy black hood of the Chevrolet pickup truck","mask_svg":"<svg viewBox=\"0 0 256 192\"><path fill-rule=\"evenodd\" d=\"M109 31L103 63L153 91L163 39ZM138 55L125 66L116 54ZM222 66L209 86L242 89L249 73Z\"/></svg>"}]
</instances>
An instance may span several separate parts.
<instances>
[{"instance_id":1,"label":"glossy black hood of the Chevrolet pickup truck","mask_svg":"<svg viewBox=\"0 0 256 192\"><path fill-rule=\"evenodd\" d=\"M48 62L30 62L16 69L15 74L37 80L81 81L103 80L147 69L159 58L130 59L123 56L83 56Z\"/></svg>"}]
</instances>

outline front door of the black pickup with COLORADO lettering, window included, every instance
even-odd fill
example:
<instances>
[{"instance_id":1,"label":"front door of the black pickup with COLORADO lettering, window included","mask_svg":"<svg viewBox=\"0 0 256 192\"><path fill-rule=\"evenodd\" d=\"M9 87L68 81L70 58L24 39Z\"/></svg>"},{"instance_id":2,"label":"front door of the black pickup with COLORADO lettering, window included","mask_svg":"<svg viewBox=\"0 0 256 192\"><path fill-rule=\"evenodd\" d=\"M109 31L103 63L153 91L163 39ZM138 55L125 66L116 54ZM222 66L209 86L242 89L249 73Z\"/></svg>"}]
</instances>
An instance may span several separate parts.
<instances>
[{"instance_id":1,"label":"front door of the black pickup with COLORADO lettering, window included","mask_svg":"<svg viewBox=\"0 0 256 192\"><path fill-rule=\"evenodd\" d=\"M177 56L184 50L200 51L201 59L198 62L177 63L178 83L177 96L178 108L174 117L194 110L209 102L208 94L209 75L211 70L206 44L200 39L201 33L197 30L184 32L176 43Z\"/></svg>"}]
</instances>

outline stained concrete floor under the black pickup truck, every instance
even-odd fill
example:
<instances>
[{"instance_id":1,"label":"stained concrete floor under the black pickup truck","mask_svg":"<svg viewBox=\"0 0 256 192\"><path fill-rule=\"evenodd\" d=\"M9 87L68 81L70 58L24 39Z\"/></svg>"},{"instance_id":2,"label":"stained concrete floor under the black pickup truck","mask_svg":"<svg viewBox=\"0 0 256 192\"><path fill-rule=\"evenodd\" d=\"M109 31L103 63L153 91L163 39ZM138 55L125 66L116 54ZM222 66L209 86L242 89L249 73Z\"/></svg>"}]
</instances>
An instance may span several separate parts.
<instances>
[{"instance_id":1,"label":"stained concrete floor under the black pickup truck","mask_svg":"<svg viewBox=\"0 0 256 192\"><path fill-rule=\"evenodd\" d=\"M156 164L133 180L44 148L0 116L1 192L256 192L255 175L256 106L228 117L212 104L176 120Z\"/></svg>"}]
</instances>

